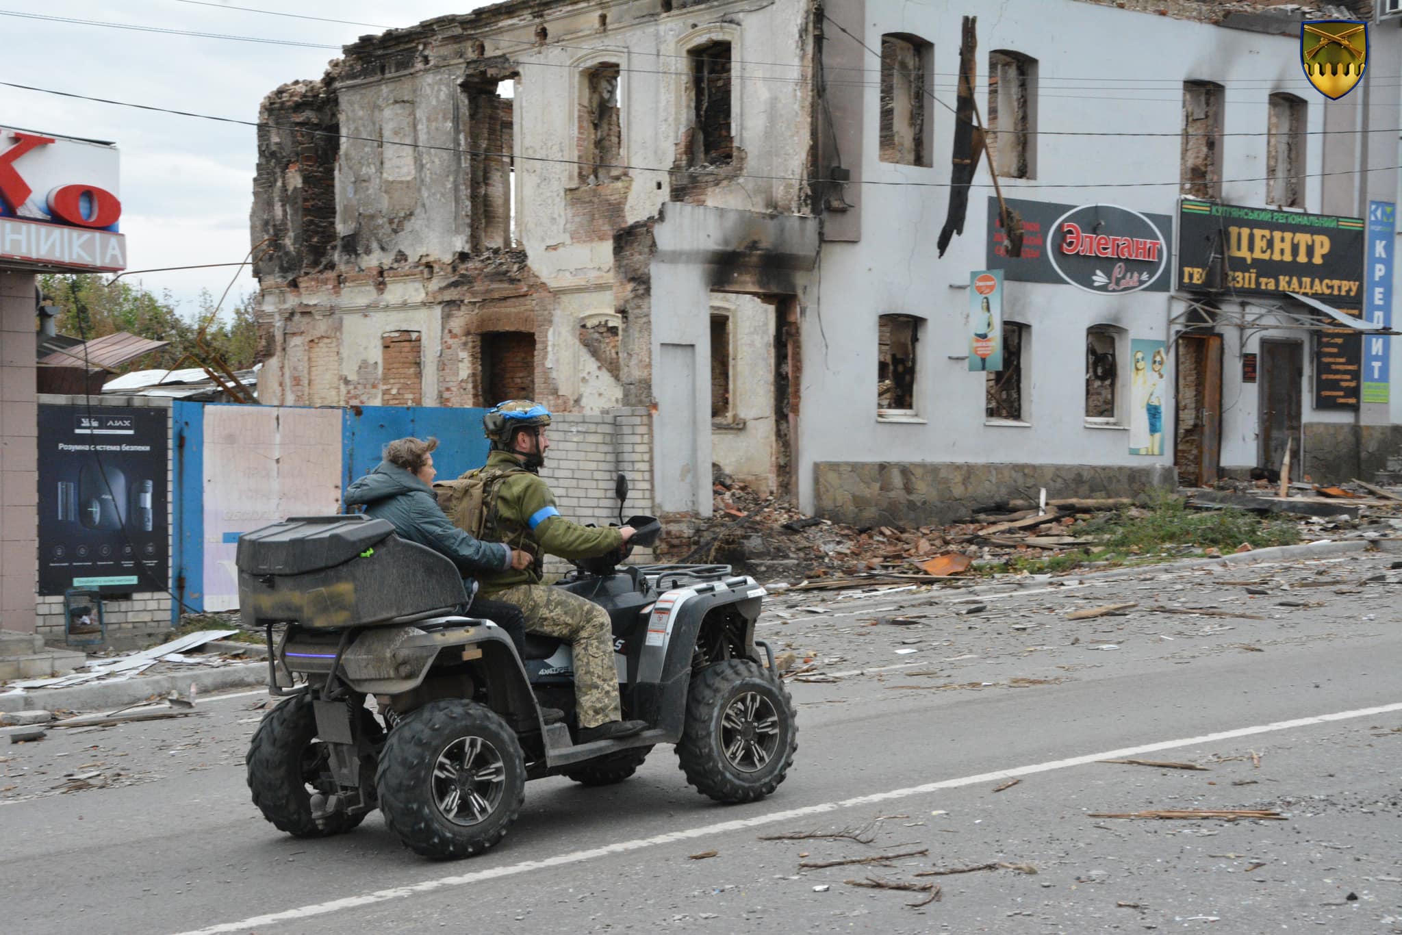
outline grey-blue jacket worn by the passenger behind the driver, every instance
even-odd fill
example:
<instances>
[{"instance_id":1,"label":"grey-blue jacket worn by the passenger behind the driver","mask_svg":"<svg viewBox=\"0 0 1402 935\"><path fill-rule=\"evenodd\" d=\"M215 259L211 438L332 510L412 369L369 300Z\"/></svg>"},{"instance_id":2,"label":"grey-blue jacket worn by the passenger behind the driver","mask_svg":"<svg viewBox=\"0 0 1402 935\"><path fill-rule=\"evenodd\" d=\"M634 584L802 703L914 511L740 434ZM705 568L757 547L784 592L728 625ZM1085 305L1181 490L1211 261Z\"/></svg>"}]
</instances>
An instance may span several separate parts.
<instances>
[{"instance_id":1,"label":"grey-blue jacket worn by the passenger behind the driver","mask_svg":"<svg viewBox=\"0 0 1402 935\"><path fill-rule=\"evenodd\" d=\"M358 505L365 505L366 514L394 523L400 538L443 552L464 573L512 566L508 545L478 541L453 526L433 488L397 464L380 461L380 467L346 489L346 506Z\"/></svg>"}]
</instances>

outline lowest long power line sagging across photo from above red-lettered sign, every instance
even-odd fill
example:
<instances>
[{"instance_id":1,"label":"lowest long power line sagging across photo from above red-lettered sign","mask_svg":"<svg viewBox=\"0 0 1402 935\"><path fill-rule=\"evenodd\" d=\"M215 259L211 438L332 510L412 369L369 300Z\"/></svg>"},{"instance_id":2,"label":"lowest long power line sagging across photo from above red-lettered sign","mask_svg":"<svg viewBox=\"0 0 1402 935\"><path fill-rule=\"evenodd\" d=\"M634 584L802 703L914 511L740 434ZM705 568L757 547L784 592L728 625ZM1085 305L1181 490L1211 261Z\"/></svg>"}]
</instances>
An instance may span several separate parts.
<instances>
[{"instance_id":1,"label":"lowest long power line sagging across photo from above red-lettered sign","mask_svg":"<svg viewBox=\"0 0 1402 935\"><path fill-rule=\"evenodd\" d=\"M836 184L851 184L845 179L831 179L831 178L805 178L798 175L756 175L750 172L729 172L723 168L707 168L707 167L687 167L687 168L656 168L649 165L628 165L628 164L603 164L603 163L586 163L582 160L569 158L551 158L547 156L524 156L512 153L492 153L486 150L470 150L460 149L456 146L437 146L433 143L408 143L402 140L386 140L376 136L353 136L349 133L331 133L328 130L315 130L303 126L283 126L278 123L269 123L265 121L244 121L233 116L216 116L212 114L195 114L191 111L177 111L172 108L157 107L154 104L133 104L129 101L114 101L111 98L91 97L87 94L74 94L73 91L56 91L53 88L41 88L32 84L18 84L15 81L0 81L0 87L18 88L21 91L34 91L36 94L52 94L56 97L66 97L79 101L93 101L94 104L108 104L112 107L128 107L139 111L151 111L156 114L172 114L175 116L189 116L200 121L215 121L219 123L234 123L240 126L264 128L271 130L286 130L289 133L306 133L308 136L328 136L341 140L353 140L359 143L376 143L379 146L407 146L409 149L430 150L439 153L453 153L457 156L477 156L482 158L499 158L509 161L522 163L545 163L558 165L586 165L590 168L621 168L631 172L658 172L662 175L711 175L721 179L739 179L749 178L756 181L767 182L801 182L801 184L819 184L819 182L836 182ZM1391 130L1398 132L1398 130ZM904 167L914 168L914 167ZM1388 172L1402 170L1402 165L1378 165L1375 168L1367 170L1338 170L1333 172L1301 172L1295 174L1295 178L1329 178L1336 175L1359 175L1363 172ZM1223 185L1237 185L1245 182L1265 182L1270 181L1270 177L1259 175L1251 178L1224 178L1220 184ZM885 181L885 179L859 179L858 185L872 185L882 188L953 188L952 182L913 182L913 181ZM1180 186L1182 179L1173 179L1171 182L1019 182L1018 179L1007 179L1002 186L1008 191L1039 191L1039 189L1084 189L1084 188L1168 188ZM969 188L993 188L993 182L970 182Z\"/></svg>"}]
</instances>

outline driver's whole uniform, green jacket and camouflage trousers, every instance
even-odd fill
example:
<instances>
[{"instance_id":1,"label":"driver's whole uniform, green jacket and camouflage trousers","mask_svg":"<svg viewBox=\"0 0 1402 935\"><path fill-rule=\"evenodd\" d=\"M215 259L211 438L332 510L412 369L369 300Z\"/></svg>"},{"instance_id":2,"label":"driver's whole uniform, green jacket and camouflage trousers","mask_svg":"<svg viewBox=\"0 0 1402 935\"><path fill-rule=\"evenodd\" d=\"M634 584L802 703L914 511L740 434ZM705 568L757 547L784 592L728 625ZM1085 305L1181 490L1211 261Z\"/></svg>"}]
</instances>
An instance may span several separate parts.
<instances>
[{"instance_id":1,"label":"driver's whole uniform, green jacket and camouflage trousers","mask_svg":"<svg viewBox=\"0 0 1402 935\"><path fill-rule=\"evenodd\" d=\"M562 517L545 481L506 451L492 451L486 467L471 474L478 472L491 475L482 500L486 513L482 538L523 548L536 557L534 565L524 571L482 572L482 596L520 607L529 632L571 643L580 728L621 719L607 611L540 580L547 552L566 559L604 555L622 545L622 535L614 527L587 528Z\"/></svg>"}]
</instances>

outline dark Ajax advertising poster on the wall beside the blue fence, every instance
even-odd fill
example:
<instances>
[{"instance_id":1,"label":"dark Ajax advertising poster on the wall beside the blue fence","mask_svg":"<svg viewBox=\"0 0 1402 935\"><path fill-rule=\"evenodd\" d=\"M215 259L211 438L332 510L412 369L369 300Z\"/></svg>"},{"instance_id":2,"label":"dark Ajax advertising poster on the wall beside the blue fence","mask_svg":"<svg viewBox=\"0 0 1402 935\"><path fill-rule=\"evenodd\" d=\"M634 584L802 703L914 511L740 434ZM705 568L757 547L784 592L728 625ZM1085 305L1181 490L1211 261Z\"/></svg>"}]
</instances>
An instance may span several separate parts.
<instances>
[{"instance_id":1,"label":"dark Ajax advertising poster on the wall beside the blue fence","mask_svg":"<svg viewBox=\"0 0 1402 935\"><path fill-rule=\"evenodd\" d=\"M39 593L164 590L167 411L39 407Z\"/></svg>"}]
</instances>

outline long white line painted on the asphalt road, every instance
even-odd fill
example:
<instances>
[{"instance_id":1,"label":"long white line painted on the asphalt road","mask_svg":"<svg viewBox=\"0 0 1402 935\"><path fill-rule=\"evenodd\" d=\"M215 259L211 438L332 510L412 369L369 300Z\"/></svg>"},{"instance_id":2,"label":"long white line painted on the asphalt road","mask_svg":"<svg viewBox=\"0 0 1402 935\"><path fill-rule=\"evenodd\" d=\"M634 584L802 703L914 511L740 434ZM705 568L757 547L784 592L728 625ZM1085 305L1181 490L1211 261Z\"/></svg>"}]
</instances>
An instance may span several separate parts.
<instances>
[{"instance_id":1,"label":"long white line painted on the asphalt road","mask_svg":"<svg viewBox=\"0 0 1402 935\"><path fill-rule=\"evenodd\" d=\"M617 841L614 844L607 844L604 847L589 848L587 851L572 851L569 854L557 854L555 856L547 856L540 861L523 861L520 864L494 866L485 871L474 871L471 873L439 876L435 879L423 880L421 883L411 883L408 886L397 886L387 890L374 890L373 893L362 893L360 896L348 896L345 899L331 900L327 903L300 906L297 908L283 910L282 913L268 913L266 915L254 915L251 918L240 920L237 922L222 922L219 925L210 925L209 928L182 932L181 935L220 935L222 932L247 932L255 928L278 925L279 922L294 922L297 920L313 918L317 915L328 915L331 913L339 913L349 908L359 908L363 906L387 903L390 900L407 899L409 896L418 896L421 893L433 893L436 890L468 886L471 883L479 883L482 880L495 880L503 876L516 876L520 873L529 873L531 871L540 871L551 866L583 864L585 861L611 856L614 854L628 854L631 851L641 851L644 848L658 847L662 844L691 841L695 838L711 837L715 834L725 834L728 831L743 831L746 828L761 827L765 824L777 824L780 821L791 821L794 819L803 819L813 814L837 812L838 809L851 809L862 805L876 805L879 802L890 802L892 799L904 799L913 795L927 795L930 792L939 792L941 789L958 789L962 786L980 785L997 779L1012 779L1016 777L1032 775L1036 772L1066 770L1068 767L1080 767L1096 763L1098 760L1136 757L1140 754L1155 753L1159 750L1172 750L1175 747L1196 747L1207 743L1218 743L1221 740L1249 737L1259 733L1273 733L1276 730L1291 730L1294 728L1309 728L1321 723L1330 723L1335 721L1350 721L1354 718L1374 718L1377 715L1392 714L1395 711L1402 711L1402 702L1391 705L1380 705L1377 708L1359 708L1354 711L1340 711L1336 714L1316 715L1314 718L1276 721L1274 723L1256 725L1251 728L1218 730L1217 733L1207 733L1199 737L1161 740L1158 743L1147 743L1138 747L1105 750L1102 753L1091 753L1081 757L1068 757L1066 760L1050 760L1047 763L1035 763L1032 765L1014 767L1009 770L997 770L994 772L981 772L979 775L962 777L958 779L942 779L939 782L927 782L925 785L907 786L904 789L890 789L887 792L862 795L854 799L823 802L820 805L809 805L799 809L788 809L785 812L771 812L768 814L757 814L754 817L737 819L735 821L721 821L716 824L705 824L701 827L686 828L681 831L669 831L667 834L658 834L649 838Z\"/></svg>"}]
</instances>

